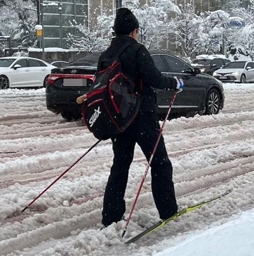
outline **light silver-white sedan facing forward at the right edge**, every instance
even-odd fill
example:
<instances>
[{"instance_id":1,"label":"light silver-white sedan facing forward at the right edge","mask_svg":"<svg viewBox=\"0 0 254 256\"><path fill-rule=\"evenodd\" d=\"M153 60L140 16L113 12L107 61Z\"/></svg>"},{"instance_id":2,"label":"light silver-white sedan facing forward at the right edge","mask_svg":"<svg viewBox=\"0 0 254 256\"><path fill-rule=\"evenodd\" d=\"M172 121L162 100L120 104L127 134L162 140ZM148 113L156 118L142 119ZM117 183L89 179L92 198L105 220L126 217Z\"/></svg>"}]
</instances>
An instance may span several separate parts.
<instances>
[{"instance_id":1,"label":"light silver-white sedan facing forward at the right edge","mask_svg":"<svg viewBox=\"0 0 254 256\"><path fill-rule=\"evenodd\" d=\"M214 72L213 76L223 82L253 82L254 81L254 62L235 61L230 62L221 69Z\"/></svg>"}]
</instances>

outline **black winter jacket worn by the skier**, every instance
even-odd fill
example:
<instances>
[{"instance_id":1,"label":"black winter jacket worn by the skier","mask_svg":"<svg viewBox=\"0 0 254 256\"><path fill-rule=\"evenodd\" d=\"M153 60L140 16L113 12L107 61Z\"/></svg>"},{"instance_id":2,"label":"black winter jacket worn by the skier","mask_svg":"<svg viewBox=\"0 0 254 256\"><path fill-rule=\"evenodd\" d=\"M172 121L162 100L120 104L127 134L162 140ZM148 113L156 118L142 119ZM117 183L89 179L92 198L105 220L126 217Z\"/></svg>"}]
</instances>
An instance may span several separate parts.
<instances>
[{"instance_id":1,"label":"black winter jacket worn by the skier","mask_svg":"<svg viewBox=\"0 0 254 256\"><path fill-rule=\"evenodd\" d=\"M137 86L140 79L143 80L143 100L140 110L143 112L155 111L156 95L151 87L165 90L175 89L176 80L173 77L165 77L158 71L150 53L143 44L127 35L113 38L111 46L99 58L97 72L102 68L103 59L116 57L118 49L131 42L134 42L134 44L130 45L119 56L122 69Z\"/></svg>"}]
</instances>

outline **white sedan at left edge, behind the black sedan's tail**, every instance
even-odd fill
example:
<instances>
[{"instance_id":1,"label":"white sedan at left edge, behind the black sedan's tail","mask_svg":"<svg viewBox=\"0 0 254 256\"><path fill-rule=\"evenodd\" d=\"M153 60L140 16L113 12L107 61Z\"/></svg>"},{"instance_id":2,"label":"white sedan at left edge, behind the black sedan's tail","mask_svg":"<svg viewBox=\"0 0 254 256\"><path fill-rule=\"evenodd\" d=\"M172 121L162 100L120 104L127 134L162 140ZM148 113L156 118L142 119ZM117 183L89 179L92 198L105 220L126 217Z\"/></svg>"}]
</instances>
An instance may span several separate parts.
<instances>
[{"instance_id":1,"label":"white sedan at left edge, behind the black sedan's tail","mask_svg":"<svg viewBox=\"0 0 254 256\"><path fill-rule=\"evenodd\" d=\"M51 69L55 66L30 57L0 58L0 89L46 87Z\"/></svg>"}]
</instances>

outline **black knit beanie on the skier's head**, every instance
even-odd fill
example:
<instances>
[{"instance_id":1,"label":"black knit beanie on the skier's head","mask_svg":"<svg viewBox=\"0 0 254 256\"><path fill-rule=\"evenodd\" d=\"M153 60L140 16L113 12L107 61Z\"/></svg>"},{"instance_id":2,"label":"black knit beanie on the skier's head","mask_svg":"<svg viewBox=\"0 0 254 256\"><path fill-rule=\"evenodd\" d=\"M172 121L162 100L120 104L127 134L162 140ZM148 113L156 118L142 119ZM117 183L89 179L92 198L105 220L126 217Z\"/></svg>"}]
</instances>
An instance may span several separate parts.
<instances>
[{"instance_id":1,"label":"black knit beanie on the skier's head","mask_svg":"<svg viewBox=\"0 0 254 256\"><path fill-rule=\"evenodd\" d=\"M139 28L138 20L128 8L119 8L114 22L114 31L117 35L129 35Z\"/></svg>"}]
</instances>

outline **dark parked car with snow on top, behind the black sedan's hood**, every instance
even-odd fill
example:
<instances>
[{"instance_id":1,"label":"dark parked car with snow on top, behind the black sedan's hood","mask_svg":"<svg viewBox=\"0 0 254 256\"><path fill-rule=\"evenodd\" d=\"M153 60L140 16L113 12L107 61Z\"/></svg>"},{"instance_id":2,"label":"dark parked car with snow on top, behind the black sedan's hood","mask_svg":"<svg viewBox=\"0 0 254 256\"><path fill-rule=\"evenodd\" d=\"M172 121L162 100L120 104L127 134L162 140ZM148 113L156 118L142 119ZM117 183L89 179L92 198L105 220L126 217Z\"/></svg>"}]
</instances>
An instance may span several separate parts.
<instances>
[{"instance_id":1,"label":"dark parked car with snow on top, behind the black sedan's hood","mask_svg":"<svg viewBox=\"0 0 254 256\"><path fill-rule=\"evenodd\" d=\"M201 72L212 75L225 64L230 63L230 60L223 55L199 55L191 64L193 67L199 67Z\"/></svg>"}]
</instances>

